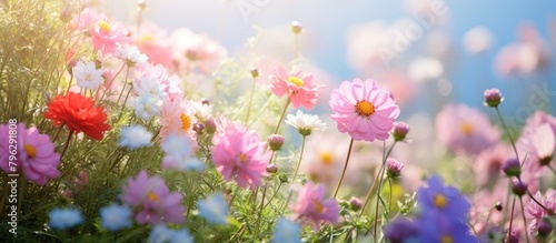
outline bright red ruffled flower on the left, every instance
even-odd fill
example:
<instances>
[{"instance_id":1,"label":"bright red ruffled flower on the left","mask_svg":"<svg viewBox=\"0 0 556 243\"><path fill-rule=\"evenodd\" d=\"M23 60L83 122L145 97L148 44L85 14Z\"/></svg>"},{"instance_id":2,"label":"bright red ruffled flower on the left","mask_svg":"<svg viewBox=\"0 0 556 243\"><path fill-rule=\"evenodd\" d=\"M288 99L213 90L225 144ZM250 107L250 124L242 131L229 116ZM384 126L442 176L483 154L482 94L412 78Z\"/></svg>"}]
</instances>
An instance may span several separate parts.
<instances>
[{"instance_id":1,"label":"bright red ruffled flower on the left","mask_svg":"<svg viewBox=\"0 0 556 243\"><path fill-rule=\"evenodd\" d=\"M79 93L68 92L59 94L48 104L44 118L52 120L54 125L67 125L70 131L83 132L88 136L100 141L103 132L111 129L106 123L105 108L95 107L91 98Z\"/></svg>"}]
</instances>

